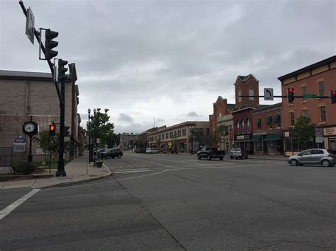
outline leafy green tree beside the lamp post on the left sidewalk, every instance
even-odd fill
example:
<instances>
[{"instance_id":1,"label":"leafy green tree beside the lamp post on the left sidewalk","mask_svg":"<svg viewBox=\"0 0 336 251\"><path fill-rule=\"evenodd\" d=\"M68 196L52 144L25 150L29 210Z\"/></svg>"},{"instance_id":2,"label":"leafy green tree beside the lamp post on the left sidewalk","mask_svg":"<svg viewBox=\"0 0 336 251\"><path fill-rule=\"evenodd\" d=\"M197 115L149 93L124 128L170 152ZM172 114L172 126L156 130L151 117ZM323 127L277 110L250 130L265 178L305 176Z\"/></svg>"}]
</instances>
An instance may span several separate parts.
<instances>
[{"instance_id":1,"label":"leafy green tree beside the lamp post on the left sidewalk","mask_svg":"<svg viewBox=\"0 0 336 251\"><path fill-rule=\"evenodd\" d=\"M113 139L113 123L109 122L110 116L107 114L108 109L101 112L101 108L97 108L96 114L89 124L88 134L93 139L93 144L96 144L96 139L101 140L101 145L111 144Z\"/></svg>"}]
</instances>

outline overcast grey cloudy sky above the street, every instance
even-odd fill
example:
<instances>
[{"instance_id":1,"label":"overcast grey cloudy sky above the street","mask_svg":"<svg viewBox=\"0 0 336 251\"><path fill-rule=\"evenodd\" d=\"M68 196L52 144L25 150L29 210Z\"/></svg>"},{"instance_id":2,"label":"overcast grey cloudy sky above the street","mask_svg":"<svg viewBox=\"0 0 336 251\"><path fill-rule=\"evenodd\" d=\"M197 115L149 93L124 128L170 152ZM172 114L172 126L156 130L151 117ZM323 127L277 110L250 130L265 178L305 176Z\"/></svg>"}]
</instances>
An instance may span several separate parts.
<instances>
[{"instance_id":1,"label":"overcast grey cloudy sky above the street","mask_svg":"<svg viewBox=\"0 0 336 251\"><path fill-rule=\"evenodd\" d=\"M89 107L108 108L116 133L208 121L218 96L235 103L238 75L281 95L279 76L336 54L335 0L23 3L76 64L84 128ZM25 31L18 0L0 0L0 69L50 72Z\"/></svg>"}]
</instances>

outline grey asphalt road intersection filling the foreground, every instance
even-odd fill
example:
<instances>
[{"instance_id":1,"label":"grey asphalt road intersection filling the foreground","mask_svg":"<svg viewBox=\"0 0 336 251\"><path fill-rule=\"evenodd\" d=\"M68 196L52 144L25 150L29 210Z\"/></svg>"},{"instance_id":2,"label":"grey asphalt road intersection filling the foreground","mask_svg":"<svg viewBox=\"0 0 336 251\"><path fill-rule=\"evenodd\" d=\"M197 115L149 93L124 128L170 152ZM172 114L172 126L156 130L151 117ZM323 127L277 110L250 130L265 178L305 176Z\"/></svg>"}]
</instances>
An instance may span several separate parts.
<instances>
[{"instance_id":1,"label":"grey asphalt road intersection filling the foreground","mask_svg":"<svg viewBox=\"0 0 336 251\"><path fill-rule=\"evenodd\" d=\"M335 250L336 168L125 154L115 175L41 189L0 250ZM29 192L0 192L0 210Z\"/></svg>"}]
</instances>

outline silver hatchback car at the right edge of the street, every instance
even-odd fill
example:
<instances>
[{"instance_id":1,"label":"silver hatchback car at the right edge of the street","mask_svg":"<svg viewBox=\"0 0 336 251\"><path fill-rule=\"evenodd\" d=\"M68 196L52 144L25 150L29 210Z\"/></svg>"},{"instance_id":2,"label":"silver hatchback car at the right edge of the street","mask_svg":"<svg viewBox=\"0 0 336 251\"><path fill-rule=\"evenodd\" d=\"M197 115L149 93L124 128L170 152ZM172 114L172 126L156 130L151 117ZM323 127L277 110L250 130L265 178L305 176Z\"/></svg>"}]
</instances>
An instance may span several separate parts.
<instances>
[{"instance_id":1,"label":"silver hatchback car at the right edge of the street","mask_svg":"<svg viewBox=\"0 0 336 251\"><path fill-rule=\"evenodd\" d=\"M336 164L336 152L327 149L308 149L289 157L287 162L296 165L323 165L334 166Z\"/></svg>"}]
</instances>

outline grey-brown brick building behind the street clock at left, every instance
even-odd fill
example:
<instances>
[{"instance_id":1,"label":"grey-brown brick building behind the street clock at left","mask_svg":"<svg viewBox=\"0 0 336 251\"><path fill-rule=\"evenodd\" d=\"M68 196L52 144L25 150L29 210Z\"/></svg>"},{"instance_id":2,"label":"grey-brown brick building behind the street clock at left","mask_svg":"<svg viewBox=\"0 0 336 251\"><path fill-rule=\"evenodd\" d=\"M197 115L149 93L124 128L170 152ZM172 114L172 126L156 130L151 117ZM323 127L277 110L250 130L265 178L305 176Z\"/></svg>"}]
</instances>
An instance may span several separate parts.
<instances>
[{"instance_id":1,"label":"grey-brown brick building behind the street clock at left","mask_svg":"<svg viewBox=\"0 0 336 251\"><path fill-rule=\"evenodd\" d=\"M81 145L78 136L80 117L77 114L79 89L75 84L77 74L74 64L69 64L69 73L70 76L65 81L65 126L69 127L69 137L66 141L71 141L72 149L67 153L66 160L74 158ZM23 134L22 126L23 122L30 118L38 123L40 132L47 131L52 122L60 122L60 103L52 75L27 71L0 71L0 148L11 149L14 139L23 136L27 147L21 154L26 156L29 137ZM33 144L34 154L43 154L37 143Z\"/></svg>"}]
</instances>

